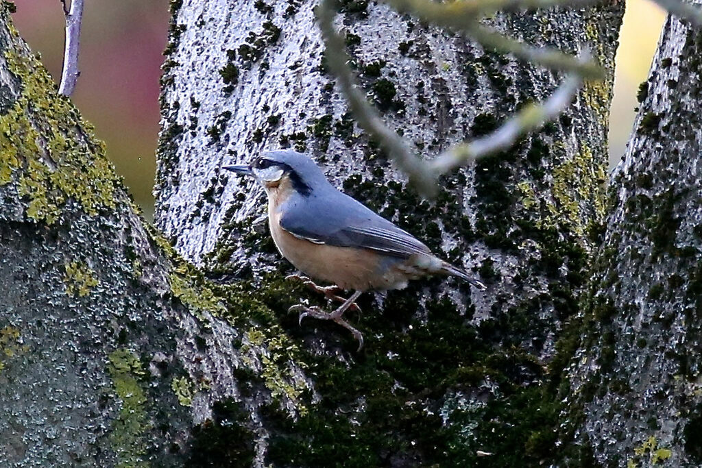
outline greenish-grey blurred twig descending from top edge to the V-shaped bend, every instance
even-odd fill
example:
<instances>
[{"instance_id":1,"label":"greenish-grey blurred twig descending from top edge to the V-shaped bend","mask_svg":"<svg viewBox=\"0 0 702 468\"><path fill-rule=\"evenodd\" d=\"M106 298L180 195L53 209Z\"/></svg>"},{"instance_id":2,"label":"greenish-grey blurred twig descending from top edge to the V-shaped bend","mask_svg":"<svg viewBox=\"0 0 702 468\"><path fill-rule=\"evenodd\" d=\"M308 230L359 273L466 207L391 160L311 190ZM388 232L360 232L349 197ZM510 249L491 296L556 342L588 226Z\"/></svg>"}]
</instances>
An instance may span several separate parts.
<instances>
[{"instance_id":1,"label":"greenish-grey blurred twig descending from top edge to the V-shaped bend","mask_svg":"<svg viewBox=\"0 0 702 468\"><path fill-rule=\"evenodd\" d=\"M326 45L326 63L331 72L336 75L338 85L346 96L351 111L356 116L359 125L376 138L380 145L390 154L397 166L409 176L419 192L425 196L436 193L437 187L428 163L420 159L409 148L406 142L394 131L390 130L380 118L373 106L366 100L356 86L353 73L348 67L349 56L345 51L343 38L336 32L333 18L336 1L324 0L317 10L319 28Z\"/></svg>"}]
</instances>

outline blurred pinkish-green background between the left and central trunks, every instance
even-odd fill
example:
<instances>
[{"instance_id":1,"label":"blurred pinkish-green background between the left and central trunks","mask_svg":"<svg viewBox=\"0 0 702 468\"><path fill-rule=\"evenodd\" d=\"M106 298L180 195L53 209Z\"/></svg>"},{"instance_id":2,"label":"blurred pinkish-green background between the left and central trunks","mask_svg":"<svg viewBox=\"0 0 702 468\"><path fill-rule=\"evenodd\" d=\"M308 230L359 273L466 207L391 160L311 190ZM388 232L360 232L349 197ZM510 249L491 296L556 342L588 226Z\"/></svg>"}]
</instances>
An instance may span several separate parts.
<instances>
[{"instance_id":1,"label":"blurred pinkish-green background between the left and central trunks","mask_svg":"<svg viewBox=\"0 0 702 468\"><path fill-rule=\"evenodd\" d=\"M18 0L15 26L56 81L61 78L64 17L59 0ZM167 0L85 2L79 76L73 100L107 143L147 218L153 213L159 76L168 32Z\"/></svg>"}]
</instances>

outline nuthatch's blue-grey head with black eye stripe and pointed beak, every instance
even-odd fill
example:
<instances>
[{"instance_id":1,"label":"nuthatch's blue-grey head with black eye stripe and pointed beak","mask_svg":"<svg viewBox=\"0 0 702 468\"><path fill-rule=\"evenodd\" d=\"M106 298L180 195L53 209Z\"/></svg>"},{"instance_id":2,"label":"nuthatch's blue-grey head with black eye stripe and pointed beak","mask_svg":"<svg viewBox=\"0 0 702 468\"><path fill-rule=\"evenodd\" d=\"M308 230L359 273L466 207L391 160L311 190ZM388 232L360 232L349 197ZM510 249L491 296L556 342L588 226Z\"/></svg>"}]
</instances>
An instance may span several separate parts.
<instances>
[{"instance_id":1,"label":"nuthatch's blue-grey head with black eye stripe and pointed beak","mask_svg":"<svg viewBox=\"0 0 702 468\"><path fill-rule=\"evenodd\" d=\"M223 169L256 178L269 196L280 189L307 196L314 189L329 185L309 156L291 150L265 152L249 164L223 166Z\"/></svg>"}]
</instances>

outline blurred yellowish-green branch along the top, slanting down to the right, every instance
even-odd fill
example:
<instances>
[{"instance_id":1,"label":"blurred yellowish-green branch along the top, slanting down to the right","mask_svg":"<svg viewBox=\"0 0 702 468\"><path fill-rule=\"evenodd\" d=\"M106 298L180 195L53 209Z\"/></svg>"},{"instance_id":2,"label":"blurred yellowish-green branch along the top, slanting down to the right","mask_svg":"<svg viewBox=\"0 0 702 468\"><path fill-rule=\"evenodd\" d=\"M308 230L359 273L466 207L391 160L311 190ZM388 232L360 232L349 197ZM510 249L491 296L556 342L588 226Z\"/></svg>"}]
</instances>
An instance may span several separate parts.
<instances>
[{"instance_id":1,"label":"blurred yellowish-green branch along the top, slanting down to the right","mask_svg":"<svg viewBox=\"0 0 702 468\"><path fill-rule=\"evenodd\" d=\"M486 2L453 1L445 4L439 4L430 0L386 1L398 11L416 15L420 20L463 32L485 48L501 53L511 53L517 58L543 65L543 67L550 69L577 73L586 79L604 78L604 71L595 62L582 62L573 55L563 53L554 48L529 46L491 31L491 29L480 25L478 22L483 15L491 13L493 8L497 10L501 8L527 8L528 6L553 6L555 4L564 4L566 1L489 0Z\"/></svg>"}]
</instances>

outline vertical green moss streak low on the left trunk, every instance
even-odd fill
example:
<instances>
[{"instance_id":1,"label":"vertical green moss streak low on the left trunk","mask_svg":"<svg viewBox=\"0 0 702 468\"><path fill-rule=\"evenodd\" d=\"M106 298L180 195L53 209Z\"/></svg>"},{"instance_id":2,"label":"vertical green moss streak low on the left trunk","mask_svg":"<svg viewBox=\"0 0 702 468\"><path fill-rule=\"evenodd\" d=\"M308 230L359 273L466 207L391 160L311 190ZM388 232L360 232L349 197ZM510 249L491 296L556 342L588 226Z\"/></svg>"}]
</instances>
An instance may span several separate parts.
<instances>
[{"instance_id":1,"label":"vertical green moss streak low on the left trunk","mask_svg":"<svg viewBox=\"0 0 702 468\"><path fill-rule=\"evenodd\" d=\"M114 420L110 443L117 455L117 467L147 467L144 434L150 429L147 418L147 398L139 380L145 376L142 363L129 349L117 349L109 356L107 370L112 377L114 392L121 402Z\"/></svg>"}]
</instances>

